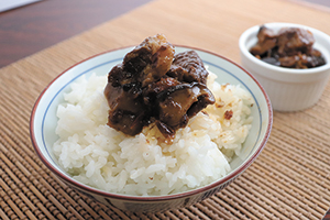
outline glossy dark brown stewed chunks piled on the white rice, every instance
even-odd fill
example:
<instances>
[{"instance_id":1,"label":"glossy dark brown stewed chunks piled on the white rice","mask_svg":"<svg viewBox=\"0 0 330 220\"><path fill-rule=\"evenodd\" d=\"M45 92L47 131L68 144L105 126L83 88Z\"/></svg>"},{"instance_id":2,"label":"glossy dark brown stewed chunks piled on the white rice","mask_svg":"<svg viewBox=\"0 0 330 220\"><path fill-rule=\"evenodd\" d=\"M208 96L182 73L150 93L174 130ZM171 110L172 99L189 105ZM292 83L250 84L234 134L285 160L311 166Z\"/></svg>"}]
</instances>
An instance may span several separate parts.
<instances>
[{"instance_id":1,"label":"glossy dark brown stewed chunks piled on the white rice","mask_svg":"<svg viewBox=\"0 0 330 220\"><path fill-rule=\"evenodd\" d=\"M108 125L135 135L155 122L165 138L173 138L191 117L215 103L207 76L195 51L175 55L164 35L147 37L108 75Z\"/></svg>"}]
</instances>

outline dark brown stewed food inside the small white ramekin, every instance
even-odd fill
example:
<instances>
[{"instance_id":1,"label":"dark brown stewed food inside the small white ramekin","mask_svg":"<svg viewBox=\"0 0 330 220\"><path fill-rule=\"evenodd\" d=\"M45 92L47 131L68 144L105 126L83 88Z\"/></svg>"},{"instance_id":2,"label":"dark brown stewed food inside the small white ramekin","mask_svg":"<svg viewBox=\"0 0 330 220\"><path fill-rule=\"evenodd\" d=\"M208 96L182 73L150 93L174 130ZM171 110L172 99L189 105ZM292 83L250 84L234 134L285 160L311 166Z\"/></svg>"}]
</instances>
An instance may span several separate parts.
<instances>
[{"instance_id":1,"label":"dark brown stewed food inside the small white ramekin","mask_svg":"<svg viewBox=\"0 0 330 220\"><path fill-rule=\"evenodd\" d=\"M250 53L263 62L288 68L312 68L326 64L322 54L314 48L315 38L310 31L284 28L275 33L262 25L257 43Z\"/></svg>"}]
</instances>

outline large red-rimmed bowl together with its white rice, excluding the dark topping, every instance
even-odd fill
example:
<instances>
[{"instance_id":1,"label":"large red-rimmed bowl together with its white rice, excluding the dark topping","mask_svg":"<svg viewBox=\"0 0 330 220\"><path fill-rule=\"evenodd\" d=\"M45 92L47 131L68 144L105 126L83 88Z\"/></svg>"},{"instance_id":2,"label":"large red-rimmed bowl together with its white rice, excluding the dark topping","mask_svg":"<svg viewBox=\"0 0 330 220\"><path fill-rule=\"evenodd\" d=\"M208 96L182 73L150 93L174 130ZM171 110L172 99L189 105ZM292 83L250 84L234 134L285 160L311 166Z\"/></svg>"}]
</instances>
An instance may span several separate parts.
<instances>
[{"instance_id":1,"label":"large red-rimmed bowl together with its white rice, excluding the dark topping","mask_svg":"<svg viewBox=\"0 0 330 220\"><path fill-rule=\"evenodd\" d=\"M134 136L107 125L109 70L132 47L98 54L58 75L33 107L30 133L41 161L62 180L122 210L156 212L190 206L232 183L271 133L271 101L235 63L194 50L209 72L216 103L165 143L153 124Z\"/></svg>"}]
</instances>

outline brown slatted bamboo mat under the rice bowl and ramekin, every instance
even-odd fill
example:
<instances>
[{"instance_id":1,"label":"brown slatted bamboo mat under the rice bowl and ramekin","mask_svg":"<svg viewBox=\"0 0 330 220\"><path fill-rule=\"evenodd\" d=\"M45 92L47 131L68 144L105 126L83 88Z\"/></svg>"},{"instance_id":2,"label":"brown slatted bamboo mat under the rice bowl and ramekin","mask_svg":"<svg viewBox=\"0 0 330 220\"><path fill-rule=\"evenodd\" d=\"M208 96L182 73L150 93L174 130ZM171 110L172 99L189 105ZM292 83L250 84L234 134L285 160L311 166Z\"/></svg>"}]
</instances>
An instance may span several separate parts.
<instances>
[{"instance_id":1,"label":"brown slatted bamboo mat under the rice bowl and ramekin","mask_svg":"<svg viewBox=\"0 0 330 220\"><path fill-rule=\"evenodd\" d=\"M233 184L163 213L130 213L80 195L50 173L30 142L34 101L70 65L156 33L240 63L240 34L272 21L330 34L326 10L284 0L158 0L0 69L0 219L321 219L330 207L330 85L308 110L274 112L268 143Z\"/></svg>"}]
</instances>

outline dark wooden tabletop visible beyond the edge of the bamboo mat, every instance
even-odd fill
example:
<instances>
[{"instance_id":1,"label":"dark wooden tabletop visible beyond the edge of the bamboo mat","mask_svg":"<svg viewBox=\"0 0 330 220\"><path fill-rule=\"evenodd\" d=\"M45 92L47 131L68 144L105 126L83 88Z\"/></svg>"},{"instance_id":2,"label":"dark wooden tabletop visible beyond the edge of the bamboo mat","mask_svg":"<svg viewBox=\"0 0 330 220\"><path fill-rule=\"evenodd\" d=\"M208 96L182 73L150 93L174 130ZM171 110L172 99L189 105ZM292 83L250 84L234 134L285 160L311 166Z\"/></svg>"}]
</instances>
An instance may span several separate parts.
<instances>
[{"instance_id":1,"label":"dark wooden tabletop visible beyond the edge of the bamboo mat","mask_svg":"<svg viewBox=\"0 0 330 220\"><path fill-rule=\"evenodd\" d=\"M152 0L44 0L0 13L0 67ZM293 0L329 7L330 0Z\"/></svg>"}]
</instances>

